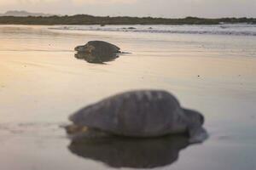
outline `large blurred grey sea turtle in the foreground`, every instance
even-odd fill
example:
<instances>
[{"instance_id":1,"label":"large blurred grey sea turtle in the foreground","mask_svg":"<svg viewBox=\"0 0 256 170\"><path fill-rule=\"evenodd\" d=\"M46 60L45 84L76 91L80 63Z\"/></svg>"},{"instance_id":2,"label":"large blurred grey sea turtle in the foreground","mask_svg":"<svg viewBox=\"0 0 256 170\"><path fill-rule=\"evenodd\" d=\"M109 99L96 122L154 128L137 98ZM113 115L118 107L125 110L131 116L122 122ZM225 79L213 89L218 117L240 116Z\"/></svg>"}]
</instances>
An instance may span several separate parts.
<instances>
[{"instance_id":1,"label":"large blurred grey sea turtle in the foreground","mask_svg":"<svg viewBox=\"0 0 256 170\"><path fill-rule=\"evenodd\" d=\"M85 107L69 117L67 133L107 133L126 137L152 138L188 133L191 143L207 139L204 117L183 109L166 91L138 90L117 94Z\"/></svg>"}]
</instances>

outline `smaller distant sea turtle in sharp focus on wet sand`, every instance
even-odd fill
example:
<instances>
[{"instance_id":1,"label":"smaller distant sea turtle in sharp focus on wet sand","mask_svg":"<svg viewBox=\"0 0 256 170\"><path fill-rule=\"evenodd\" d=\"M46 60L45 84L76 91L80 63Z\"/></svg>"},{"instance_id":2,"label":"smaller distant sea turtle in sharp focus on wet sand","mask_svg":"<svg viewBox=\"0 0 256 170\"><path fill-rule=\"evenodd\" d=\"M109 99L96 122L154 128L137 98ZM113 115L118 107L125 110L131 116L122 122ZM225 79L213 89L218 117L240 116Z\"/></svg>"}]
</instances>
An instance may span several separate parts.
<instances>
[{"instance_id":1,"label":"smaller distant sea turtle in sharp focus on wet sand","mask_svg":"<svg viewBox=\"0 0 256 170\"><path fill-rule=\"evenodd\" d=\"M120 52L119 47L113 45L112 43L103 41L90 41L87 42L85 45L74 48L74 50L79 53L104 55L117 54Z\"/></svg>"}]
</instances>

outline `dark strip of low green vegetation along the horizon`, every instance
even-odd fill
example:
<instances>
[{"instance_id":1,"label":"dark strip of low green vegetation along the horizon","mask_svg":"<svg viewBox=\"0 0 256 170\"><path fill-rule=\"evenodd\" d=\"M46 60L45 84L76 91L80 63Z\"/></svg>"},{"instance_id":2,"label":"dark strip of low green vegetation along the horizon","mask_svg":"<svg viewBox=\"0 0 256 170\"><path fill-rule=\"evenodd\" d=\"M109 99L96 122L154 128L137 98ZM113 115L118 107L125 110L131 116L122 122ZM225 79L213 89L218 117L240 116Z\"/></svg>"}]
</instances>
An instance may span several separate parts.
<instances>
[{"instance_id":1,"label":"dark strip of low green vegetation along the horizon","mask_svg":"<svg viewBox=\"0 0 256 170\"><path fill-rule=\"evenodd\" d=\"M15 25L217 25L221 23L236 24L247 23L256 24L254 18L222 18L222 19L203 19L187 17L183 19L165 19L152 17L102 17L87 14L77 14L73 16L1 16L0 24Z\"/></svg>"}]
</instances>

